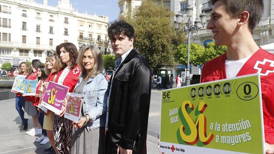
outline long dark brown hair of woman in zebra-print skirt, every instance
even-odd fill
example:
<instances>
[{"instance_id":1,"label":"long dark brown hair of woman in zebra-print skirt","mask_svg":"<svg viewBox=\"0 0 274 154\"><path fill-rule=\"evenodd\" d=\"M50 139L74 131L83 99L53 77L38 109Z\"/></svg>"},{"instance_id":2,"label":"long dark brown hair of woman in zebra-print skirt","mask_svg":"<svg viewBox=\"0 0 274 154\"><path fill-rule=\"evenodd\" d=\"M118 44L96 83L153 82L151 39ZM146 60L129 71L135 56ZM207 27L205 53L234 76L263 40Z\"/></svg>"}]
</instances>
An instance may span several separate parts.
<instances>
[{"instance_id":1,"label":"long dark brown hair of woman in zebra-print skirt","mask_svg":"<svg viewBox=\"0 0 274 154\"><path fill-rule=\"evenodd\" d=\"M69 52L69 59L71 61L71 65L70 65L69 69L73 69L77 65L77 57L78 57L78 54L79 54L78 51L77 51L77 48L73 43L69 43L69 42L61 43L61 44L57 45L56 46L56 53L57 53L59 58L60 58L60 54L61 54L60 49L63 48L63 47L65 48L65 50L67 52ZM65 63L63 63L63 67L60 70L66 68L66 67L67 67L67 65Z\"/></svg>"}]
</instances>

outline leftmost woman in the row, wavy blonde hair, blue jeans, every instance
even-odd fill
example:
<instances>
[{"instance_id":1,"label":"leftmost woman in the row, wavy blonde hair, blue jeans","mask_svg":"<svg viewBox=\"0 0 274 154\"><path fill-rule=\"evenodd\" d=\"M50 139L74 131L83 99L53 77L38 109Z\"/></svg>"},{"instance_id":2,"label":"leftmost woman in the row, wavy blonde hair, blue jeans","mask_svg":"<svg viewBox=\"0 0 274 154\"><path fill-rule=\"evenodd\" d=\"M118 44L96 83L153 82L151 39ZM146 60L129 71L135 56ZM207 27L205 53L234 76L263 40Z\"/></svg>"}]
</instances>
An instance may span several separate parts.
<instances>
[{"instance_id":1,"label":"leftmost woman in the row, wavy blonde hair, blue jeans","mask_svg":"<svg viewBox=\"0 0 274 154\"><path fill-rule=\"evenodd\" d=\"M22 62L19 65L19 73L18 75L28 75L31 73L31 67L27 62ZM16 93L15 97L15 109L18 111L22 124L19 126L20 130L28 130L28 119L24 118L24 111L22 110L24 108L25 110L25 98L22 96L21 93Z\"/></svg>"}]
</instances>

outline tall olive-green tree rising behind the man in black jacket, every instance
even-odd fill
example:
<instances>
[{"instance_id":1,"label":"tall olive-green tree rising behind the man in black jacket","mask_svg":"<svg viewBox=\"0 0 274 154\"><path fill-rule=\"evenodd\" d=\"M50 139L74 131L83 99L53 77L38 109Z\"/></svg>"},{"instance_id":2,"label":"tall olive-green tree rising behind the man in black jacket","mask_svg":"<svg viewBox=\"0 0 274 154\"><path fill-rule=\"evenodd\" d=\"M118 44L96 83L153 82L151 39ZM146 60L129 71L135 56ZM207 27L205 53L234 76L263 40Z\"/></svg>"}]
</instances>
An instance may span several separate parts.
<instances>
[{"instance_id":1,"label":"tall olive-green tree rising behind the man in black jacket","mask_svg":"<svg viewBox=\"0 0 274 154\"><path fill-rule=\"evenodd\" d=\"M173 16L173 12L152 0L143 0L132 15L119 16L134 27L135 48L149 61L152 70L159 64L173 65L174 51L185 40L182 32L176 32Z\"/></svg>"}]
</instances>

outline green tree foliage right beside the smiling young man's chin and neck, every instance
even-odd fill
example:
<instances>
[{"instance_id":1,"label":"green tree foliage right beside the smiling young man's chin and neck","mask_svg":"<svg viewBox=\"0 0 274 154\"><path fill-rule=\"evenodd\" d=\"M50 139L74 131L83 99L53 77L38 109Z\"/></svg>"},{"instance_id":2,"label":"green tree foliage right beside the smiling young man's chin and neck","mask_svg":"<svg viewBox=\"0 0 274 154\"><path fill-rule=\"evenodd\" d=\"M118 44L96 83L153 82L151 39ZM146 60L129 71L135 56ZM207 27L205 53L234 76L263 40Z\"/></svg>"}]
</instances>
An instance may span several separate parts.
<instances>
[{"instance_id":1,"label":"green tree foliage right beside the smiling young man's chin and neck","mask_svg":"<svg viewBox=\"0 0 274 154\"><path fill-rule=\"evenodd\" d=\"M206 63L224 53L226 53L226 46L216 46L214 42L206 44L205 51L201 56L201 63Z\"/></svg>"}]
</instances>

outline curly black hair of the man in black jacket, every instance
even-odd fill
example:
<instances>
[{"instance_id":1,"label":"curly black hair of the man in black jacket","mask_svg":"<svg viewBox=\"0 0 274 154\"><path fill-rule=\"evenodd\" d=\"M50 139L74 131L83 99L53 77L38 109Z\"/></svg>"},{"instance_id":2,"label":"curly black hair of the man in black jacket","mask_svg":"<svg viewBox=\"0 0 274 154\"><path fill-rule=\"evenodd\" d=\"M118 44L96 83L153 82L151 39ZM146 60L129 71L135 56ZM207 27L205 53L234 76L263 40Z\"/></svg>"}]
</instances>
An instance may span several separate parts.
<instances>
[{"instance_id":1,"label":"curly black hair of the man in black jacket","mask_svg":"<svg viewBox=\"0 0 274 154\"><path fill-rule=\"evenodd\" d=\"M129 39L135 39L135 30L132 25L124 20L115 20L110 23L107 29L108 37L113 39L115 35L126 35Z\"/></svg>"}]
</instances>

